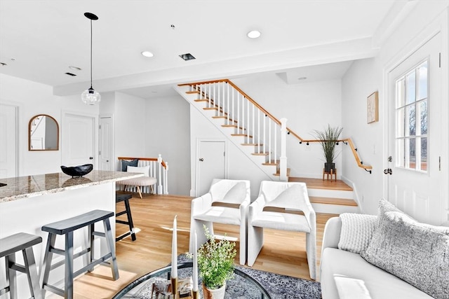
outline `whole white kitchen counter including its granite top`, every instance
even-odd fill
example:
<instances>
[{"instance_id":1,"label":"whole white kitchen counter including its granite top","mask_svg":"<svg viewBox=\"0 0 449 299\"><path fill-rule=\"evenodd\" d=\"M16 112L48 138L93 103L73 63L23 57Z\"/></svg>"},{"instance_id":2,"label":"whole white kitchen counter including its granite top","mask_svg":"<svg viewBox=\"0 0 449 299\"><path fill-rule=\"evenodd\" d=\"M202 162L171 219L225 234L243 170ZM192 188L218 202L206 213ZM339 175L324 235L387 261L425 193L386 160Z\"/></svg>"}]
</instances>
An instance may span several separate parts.
<instances>
[{"instance_id":1,"label":"whole white kitchen counter including its granite top","mask_svg":"<svg viewBox=\"0 0 449 299\"><path fill-rule=\"evenodd\" d=\"M42 237L43 242L33 246L36 265L43 263L43 252L48 234L43 225L77 216L94 209L115 211L116 181L132 179L143 174L132 172L107 172L93 170L86 176L73 178L64 173L39 174L0 179L7 183L0 187L0 238L17 232L27 232ZM111 217L112 235L115 235L115 216ZM104 231L102 223L96 223L96 231ZM74 251L88 247L87 228L76 230ZM95 237L95 258L109 252L105 238ZM64 248L64 237L58 236L56 247ZM74 269L83 267L84 258L74 260ZM3 264L2 264L3 265ZM1 270L1 266L0 266ZM51 273L52 284L63 287L64 267ZM27 285L27 276L18 274L18 285ZM0 288L6 286L6 278L0 275ZM18 298L29 298L28 288L19 288Z\"/></svg>"}]
</instances>

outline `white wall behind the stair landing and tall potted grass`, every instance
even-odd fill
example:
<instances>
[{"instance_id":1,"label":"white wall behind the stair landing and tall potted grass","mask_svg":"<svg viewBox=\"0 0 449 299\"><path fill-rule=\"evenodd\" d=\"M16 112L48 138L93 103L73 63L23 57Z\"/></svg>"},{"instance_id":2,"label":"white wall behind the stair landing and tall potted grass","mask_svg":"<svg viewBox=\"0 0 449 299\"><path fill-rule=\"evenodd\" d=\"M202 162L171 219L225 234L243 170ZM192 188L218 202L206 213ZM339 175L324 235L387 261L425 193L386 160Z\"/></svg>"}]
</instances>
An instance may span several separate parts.
<instances>
[{"instance_id":1,"label":"white wall behind the stair landing and tall potted grass","mask_svg":"<svg viewBox=\"0 0 449 299\"><path fill-rule=\"evenodd\" d=\"M232 82L277 119L287 118L287 127L302 139L316 139L314 130L323 130L328 124L342 127L340 79L289 85L276 74L258 74L232 79ZM349 134L350 131L344 128L342 137ZM299 140L290 134L287 148L291 176L322 177L324 158L319 143L299 144ZM343 146L337 146L337 153L342 149ZM341 154L337 155L335 163L337 169L341 168Z\"/></svg>"}]
</instances>

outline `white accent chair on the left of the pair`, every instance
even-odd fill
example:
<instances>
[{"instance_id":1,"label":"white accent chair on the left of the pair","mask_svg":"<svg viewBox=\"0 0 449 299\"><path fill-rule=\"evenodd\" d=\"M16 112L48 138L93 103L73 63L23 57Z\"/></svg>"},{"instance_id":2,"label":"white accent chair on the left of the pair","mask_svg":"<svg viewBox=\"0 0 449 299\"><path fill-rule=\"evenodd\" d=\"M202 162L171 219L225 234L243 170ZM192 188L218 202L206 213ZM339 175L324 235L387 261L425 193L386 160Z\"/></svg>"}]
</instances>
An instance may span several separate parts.
<instances>
[{"instance_id":1,"label":"white accent chair on the left of the pair","mask_svg":"<svg viewBox=\"0 0 449 299\"><path fill-rule=\"evenodd\" d=\"M192 200L190 219L190 248L194 251L196 231L198 249L208 241L206 225L213 235L213 222L240 226L240 264L246 263L246 223L250 205L250 181L213 179L209 192Z\"/></svg>"}]
</instances>

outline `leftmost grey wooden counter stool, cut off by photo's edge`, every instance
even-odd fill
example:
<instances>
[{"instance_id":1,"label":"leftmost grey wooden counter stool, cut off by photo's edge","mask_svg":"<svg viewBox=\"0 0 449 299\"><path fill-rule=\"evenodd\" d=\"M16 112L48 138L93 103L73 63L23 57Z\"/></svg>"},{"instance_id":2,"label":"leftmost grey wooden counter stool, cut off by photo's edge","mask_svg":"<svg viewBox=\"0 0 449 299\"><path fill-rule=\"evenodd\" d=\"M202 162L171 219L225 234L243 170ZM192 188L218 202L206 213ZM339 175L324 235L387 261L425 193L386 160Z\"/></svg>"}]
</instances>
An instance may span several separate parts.
<instances>
[{"instance_id":1,"label":"leftmost grey wooden counter stool, cut off by photo's edge","mask_svg":"<svg viewBox=\"0 0 449 299\"><path fill-rule=\"evenodd\" d=\"M17 298L17 281L15 272L19 271L27 274L29 292L35 299L43 298L39 277L37 276L36 263L34 262L33 245L42 242L42 238L36 235L29 235L19 232L15 235L0 239L0 258L5 257L6 262L6 283L8 286L0 289L0 295L9 292L10 298ZM15 253L22 251L25 265L15 263Z\"/></svg>"}]
</instances>

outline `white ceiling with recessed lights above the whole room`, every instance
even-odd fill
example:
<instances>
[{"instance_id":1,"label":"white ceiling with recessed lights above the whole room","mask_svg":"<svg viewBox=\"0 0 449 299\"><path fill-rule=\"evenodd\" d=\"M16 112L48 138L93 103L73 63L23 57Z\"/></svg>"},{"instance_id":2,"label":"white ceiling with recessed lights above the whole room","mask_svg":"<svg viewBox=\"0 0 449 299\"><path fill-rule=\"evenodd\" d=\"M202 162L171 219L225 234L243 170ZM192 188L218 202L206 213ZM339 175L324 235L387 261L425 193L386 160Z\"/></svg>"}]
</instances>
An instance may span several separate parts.
<instances>
[{"instance_id":1,"label":"white ceiling with recessed lights above the whole room","mask_svg":"<svg viewBox=\"0 0 449 299\"><path fill-rule=\"evenodd\" d=\"M90 20L83 13L91 12L99 17L93 87L100 92L154 97L175 83L261 71L288 84L298 76L341 78L352 60L375 55L391 11L407 2L0 0L0 73L51 85L55 95L81 93L90 81ZM262 36L248 39L251 29ZM183 53L196 60L182 60Z\"/></svg>"}]
</instances>

